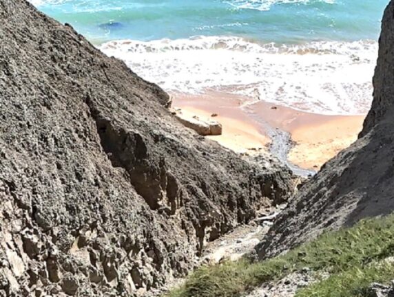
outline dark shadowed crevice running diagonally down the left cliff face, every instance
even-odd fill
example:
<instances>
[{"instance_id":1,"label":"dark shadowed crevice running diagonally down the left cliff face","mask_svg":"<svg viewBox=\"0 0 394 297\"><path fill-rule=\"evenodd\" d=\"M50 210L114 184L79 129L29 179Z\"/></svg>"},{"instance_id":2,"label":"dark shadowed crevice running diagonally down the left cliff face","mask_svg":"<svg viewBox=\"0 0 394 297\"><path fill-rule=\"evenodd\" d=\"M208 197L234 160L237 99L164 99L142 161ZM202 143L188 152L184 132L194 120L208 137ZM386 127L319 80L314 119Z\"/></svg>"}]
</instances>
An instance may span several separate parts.
<instances>
[{"instance_id":1,"label":"dark shadowed crevice running diagonally down the left cliff face","mask_svg":"<svg viewBox=\"0 0 394 297\"><path fill-rule=\"evenodd\" d=\"M96 122L97 132L101 139L103 151L107 154L114 167L121 167L129 175L130 182L149 208L158 210L169 207L169 213L175 214L180 191L176 178L167 173L165 159L160 159L158 166L150 166L147 146L143 137L133 131L117 128L94 107L92 95L87 94L86 104ZM178 196L178 197L177 197ZM163 199L167 198L167 203ZM178 199L177 199L178 198Z\"/></svg>"}]
</instances>

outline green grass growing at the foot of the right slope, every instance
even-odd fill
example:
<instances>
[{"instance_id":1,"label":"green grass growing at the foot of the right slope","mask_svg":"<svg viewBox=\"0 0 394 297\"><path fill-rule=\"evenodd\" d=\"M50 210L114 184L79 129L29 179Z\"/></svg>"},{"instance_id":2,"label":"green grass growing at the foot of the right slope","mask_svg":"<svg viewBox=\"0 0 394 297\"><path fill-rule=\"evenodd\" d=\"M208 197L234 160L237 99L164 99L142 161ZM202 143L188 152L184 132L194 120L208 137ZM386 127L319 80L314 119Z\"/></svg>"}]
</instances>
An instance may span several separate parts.
<instances>
[{"instance_id":1,"label":"green grass growing at the foot of the right slope","mask_svg":"<svg viewBox=\"0 0 394 297\"><path fill-rule=\"evenodd\" d=\"M284 256L259 263L246 259L200 267L167 297L238 297L245 292L306 267L331 277L298 292L298 297L368 296L374 281L394 278L394 215L361 221L353 228L327 232Z\"/></svg>"}]
</instances>

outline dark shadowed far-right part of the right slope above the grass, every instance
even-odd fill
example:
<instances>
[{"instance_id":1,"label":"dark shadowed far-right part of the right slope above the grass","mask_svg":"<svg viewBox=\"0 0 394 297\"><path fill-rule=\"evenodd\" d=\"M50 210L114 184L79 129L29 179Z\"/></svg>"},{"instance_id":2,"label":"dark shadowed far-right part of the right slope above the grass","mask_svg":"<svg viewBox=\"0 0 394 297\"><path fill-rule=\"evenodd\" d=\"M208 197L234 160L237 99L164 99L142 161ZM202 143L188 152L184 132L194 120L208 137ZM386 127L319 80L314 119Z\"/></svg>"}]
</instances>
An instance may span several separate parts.
<instances>
[{"instance_id":1,"label":"dark shadowed far-right part of the right slope above the grass","mask_svg":"<svg viewBox=\"0 0 394 297\"><path fill-rule=\"evenodd\" d=\"M346 225L353 225L364 217L391 214L394 210L394 109L388 109L372 131L360 142L366 142L357 157L342 175L348 182L344 185L351 190L357 186L357 206L346 219ZM349 184L349 181L352 181Z\"/></svg>"}]
</instances>

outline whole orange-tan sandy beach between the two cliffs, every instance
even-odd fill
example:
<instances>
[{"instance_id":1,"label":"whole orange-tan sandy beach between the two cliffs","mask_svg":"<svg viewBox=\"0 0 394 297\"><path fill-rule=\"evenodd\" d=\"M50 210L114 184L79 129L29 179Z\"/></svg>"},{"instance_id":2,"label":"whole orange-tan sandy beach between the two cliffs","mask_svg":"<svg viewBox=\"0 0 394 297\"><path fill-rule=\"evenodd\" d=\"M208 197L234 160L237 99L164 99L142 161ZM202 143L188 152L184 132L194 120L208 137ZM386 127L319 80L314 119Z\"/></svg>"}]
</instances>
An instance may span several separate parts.
<instances>
[{"instance_id":1,"label":"whole orange-tan sandy beach between the two cliffs","mask_svg":"<svg viewBox=\"0 0 394 297\"><path fill-rule=\"evenodd\" d=\"M209 136L238 153L268 149L269 129L291 134L289 162L318 170L357 139L365 115L320 115L243 96L209 91L201 95L172 94L173 106L183 113L220 122L223 133ZM214 117L212 116L214 115Z\"/></svg>"}]
</instances>

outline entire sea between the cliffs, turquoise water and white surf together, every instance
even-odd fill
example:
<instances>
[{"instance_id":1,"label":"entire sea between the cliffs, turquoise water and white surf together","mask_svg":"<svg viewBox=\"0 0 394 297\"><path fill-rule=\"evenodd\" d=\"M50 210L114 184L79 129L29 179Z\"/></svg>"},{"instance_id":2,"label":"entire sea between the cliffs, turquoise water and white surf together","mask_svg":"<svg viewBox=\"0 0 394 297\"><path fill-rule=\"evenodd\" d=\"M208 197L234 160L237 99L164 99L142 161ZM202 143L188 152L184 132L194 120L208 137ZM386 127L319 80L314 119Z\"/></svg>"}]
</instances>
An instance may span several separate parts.
<instances>
[{"instance_id":1,"label":"entire sea between the cliffs, turquoise water and white surf together","mask_svg":"<svg viewBox=\"0 0 394 297\"><path fill-rule=\"evenodd\" d=\"M371 102L387 0L30 0L167 90L320 113Z\"/></svg>"}]
</instances>

